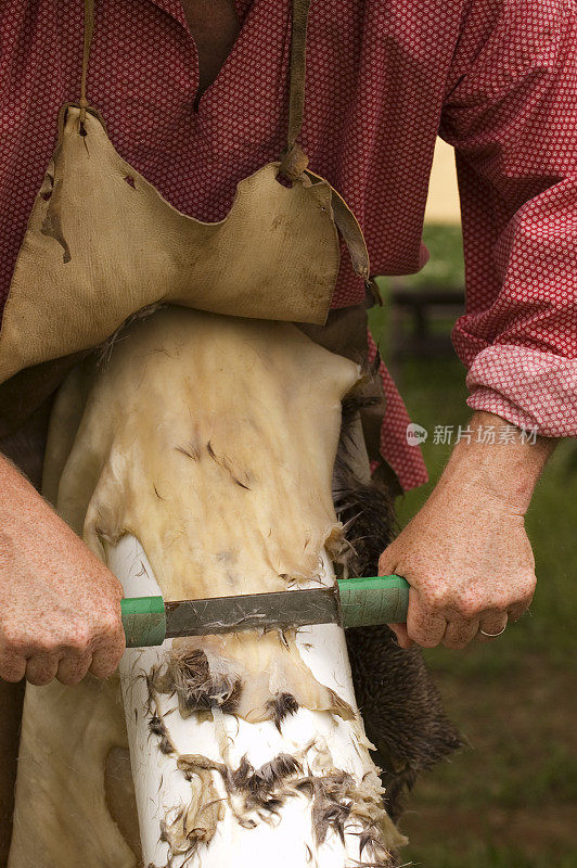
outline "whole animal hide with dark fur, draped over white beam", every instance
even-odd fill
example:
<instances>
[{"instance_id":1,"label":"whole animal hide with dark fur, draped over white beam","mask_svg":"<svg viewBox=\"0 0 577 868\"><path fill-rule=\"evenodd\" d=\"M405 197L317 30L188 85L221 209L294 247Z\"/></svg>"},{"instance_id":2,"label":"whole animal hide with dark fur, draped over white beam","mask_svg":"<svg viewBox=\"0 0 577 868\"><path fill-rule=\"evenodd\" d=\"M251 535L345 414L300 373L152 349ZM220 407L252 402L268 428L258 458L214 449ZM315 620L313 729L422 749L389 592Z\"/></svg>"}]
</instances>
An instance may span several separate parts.
<instances>
[{"instance_id":1,"label":"whole animal hide with dark fur, draped over white beam","mask_svg":"<svg viewBox=\"0 0 577 868\"><path fill-rule=\"evenodd\" d=\"M141 574L150 569L166 599L322 583L324 552L351 574L375 572L390 501L362 471L350 403L341 430L342 399L362 376L358 365L288 324L183 309L132 323L108 355L100 370L76 369L61 391L44 472L44 494L99 557L132 535L148 557ZM339 434L337 516L331 480ZM342 630L332 627L336 648ZM458 737L418 656L395 649L386 628L373 630L351 631L349 650L396 800ZM142 733L146 719L143 744L157 746L161 786L165 774L189 786L187 801L152 830L168 848L167 865L214 848L231 818L252 829L302 796L311 806L307 847L344 844L351 828L360 865L390 865L402 838L384 810L352 691L320 678L297 638L293 630L183 639L154 665L145 654L140 663L131 658L146 689L142 710L132 703L136 723L128 710L130 727ZM346 680L344 641L342 660ZM175 723L191 717L222 731L225 719L235 719L241 735L246 726L294 735L297 718L318 730L291 756L278 753L257 767L225 742L218 756L192 753ZM346 737L355 771L339 765L321 731ZM126 775L118 751L126 748L114 681L27 689L10 868L134 868L138 835L121 807L132 803L119 795ZM389 809L397 813L393 800Z\"/></svg>"}]
</instances>

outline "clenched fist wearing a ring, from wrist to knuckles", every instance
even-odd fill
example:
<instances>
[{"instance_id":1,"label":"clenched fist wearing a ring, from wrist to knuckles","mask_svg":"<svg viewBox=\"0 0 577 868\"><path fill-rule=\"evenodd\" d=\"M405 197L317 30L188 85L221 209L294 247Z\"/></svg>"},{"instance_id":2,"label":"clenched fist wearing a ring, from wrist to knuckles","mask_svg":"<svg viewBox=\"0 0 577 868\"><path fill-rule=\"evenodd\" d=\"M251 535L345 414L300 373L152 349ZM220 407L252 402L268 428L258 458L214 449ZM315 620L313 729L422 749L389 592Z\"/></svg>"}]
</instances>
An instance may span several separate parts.
<instances>
[{"instance_id":1,"label":"clenched fist wearing a ring, from wrist to knuckles","mask_svg":"<svg viewBox=\"0 0 577 868\"><path fill-rule=\"evenodd\" d=\"M411 585L407 625L392 625L403 648L464 648L516 621L535 591L535 562L523 515L490 497L467 506L434 492L383 553L380 574Z\"/></svg>"}]
</instances>

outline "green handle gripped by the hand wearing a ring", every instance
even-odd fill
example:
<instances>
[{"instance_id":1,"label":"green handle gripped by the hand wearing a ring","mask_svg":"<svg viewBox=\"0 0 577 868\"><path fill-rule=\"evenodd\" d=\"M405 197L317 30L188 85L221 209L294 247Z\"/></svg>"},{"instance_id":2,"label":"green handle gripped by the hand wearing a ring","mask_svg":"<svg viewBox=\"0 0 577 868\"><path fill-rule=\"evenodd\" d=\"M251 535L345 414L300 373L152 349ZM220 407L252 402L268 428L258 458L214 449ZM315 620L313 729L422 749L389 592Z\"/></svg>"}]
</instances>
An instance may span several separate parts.
<instances>
[{"instance_id":1,"label":"green handle gripped by the hand wearing a ring","mask_svg":"<svg viewBox=\"0 0 577 868\"><path fill-rule=\"evenodd\" d=\"M409 588L400 576L337 579L344 627L402 624L407 621Z\"/></svg>"}]
</instances>

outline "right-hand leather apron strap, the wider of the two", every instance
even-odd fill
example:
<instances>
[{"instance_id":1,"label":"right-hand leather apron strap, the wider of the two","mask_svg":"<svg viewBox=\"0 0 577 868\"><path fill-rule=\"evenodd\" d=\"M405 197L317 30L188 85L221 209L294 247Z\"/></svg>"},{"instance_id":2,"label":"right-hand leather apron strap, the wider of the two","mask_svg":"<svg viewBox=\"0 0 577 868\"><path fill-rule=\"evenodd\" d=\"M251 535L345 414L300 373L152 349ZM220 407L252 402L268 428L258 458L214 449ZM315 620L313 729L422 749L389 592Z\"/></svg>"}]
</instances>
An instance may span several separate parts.
<instances>
[{"instance_id":1,"label":"right-hand leather apron strap, the wider of the two","mask_svg":"<svg viewBox=\"0 0 577 868\"><path fill-rule=\"evenodd\" d=\"M308 157L296 140L303 126L305 107L305 69L307 22L310 0L293 0L291 28L291 81L288 90L288 135L281 154L280 173L295 181L308 165Z\"/></svg>"}]
</instances>

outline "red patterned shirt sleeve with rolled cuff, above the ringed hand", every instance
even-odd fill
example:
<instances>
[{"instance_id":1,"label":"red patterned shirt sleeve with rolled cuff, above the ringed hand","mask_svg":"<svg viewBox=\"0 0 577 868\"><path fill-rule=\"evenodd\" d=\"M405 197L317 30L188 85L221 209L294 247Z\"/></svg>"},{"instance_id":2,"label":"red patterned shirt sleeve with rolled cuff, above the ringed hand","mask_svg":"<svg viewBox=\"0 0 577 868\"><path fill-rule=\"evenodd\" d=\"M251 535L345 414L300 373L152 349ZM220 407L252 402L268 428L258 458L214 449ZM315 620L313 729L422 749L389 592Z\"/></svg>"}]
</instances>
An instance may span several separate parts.
<instances>
[{"instance_id":1,"label":"red patterned shirt sleeve with rolled cuff, above the ringed hand","mask_svg":"<svg viewBox=\"0 0 577 868\"><path fill-rule=\"evenodd\" d=\"M456 149L467 404L577 435L577 5L470 0L440 123Z\"/></svg>"}]
</instances>

